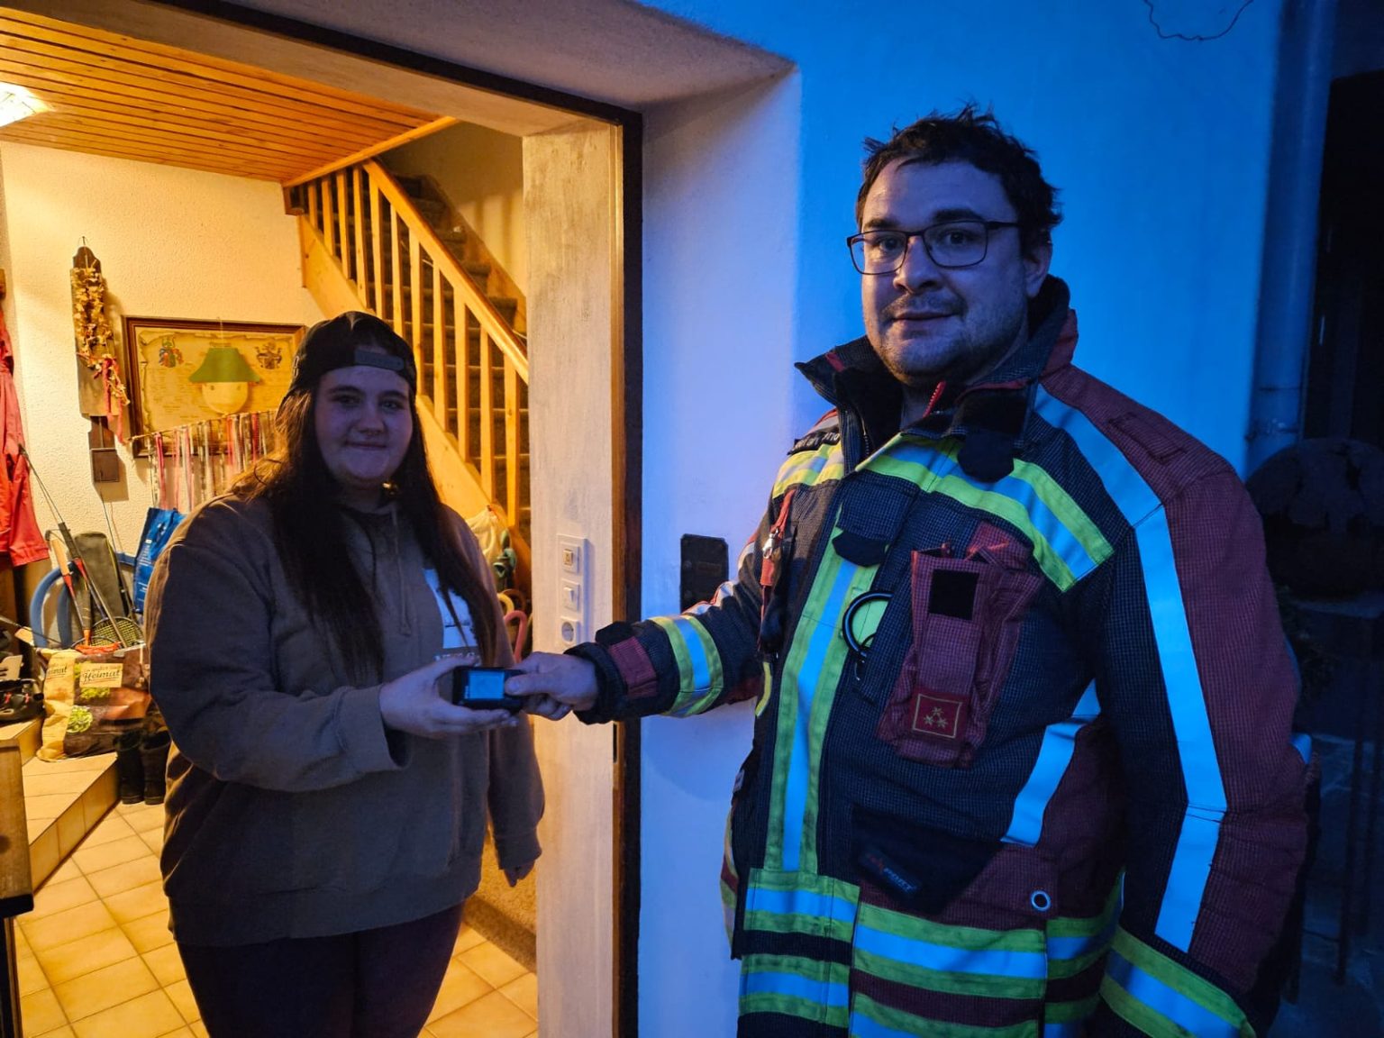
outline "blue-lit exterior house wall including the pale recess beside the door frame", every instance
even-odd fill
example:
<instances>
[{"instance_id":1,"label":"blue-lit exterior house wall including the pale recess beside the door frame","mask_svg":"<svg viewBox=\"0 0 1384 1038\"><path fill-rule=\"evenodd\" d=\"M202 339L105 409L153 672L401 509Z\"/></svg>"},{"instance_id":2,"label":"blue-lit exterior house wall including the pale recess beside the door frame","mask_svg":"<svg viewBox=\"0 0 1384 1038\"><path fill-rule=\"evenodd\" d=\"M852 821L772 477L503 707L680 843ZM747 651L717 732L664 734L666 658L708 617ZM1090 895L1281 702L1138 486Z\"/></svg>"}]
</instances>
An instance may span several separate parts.
<instances>
[{"instance_id":1,"label":"blue-lit exterior house wall including the pale recess beside the door frame","mask_svg":"<svg viewBox=\"0 0 1384 1038\"><path fill-rule=\"evenodd\" d=\"M1200 43L1160 39L1133 1L652 6L797 72L648 118L645 613L677 609L680 534L734 556L792 430L825 410L790 361L861 334L843 245L861 140L969 98L1062 188L1053 271L1081 314L1078 361L1243 462L1277 3ZM1223 28L1158 7L1168 35ZM734 1032L717 868L747 732L743 707L644 722L641 1034Z\"/></svg>"}]
</instances>

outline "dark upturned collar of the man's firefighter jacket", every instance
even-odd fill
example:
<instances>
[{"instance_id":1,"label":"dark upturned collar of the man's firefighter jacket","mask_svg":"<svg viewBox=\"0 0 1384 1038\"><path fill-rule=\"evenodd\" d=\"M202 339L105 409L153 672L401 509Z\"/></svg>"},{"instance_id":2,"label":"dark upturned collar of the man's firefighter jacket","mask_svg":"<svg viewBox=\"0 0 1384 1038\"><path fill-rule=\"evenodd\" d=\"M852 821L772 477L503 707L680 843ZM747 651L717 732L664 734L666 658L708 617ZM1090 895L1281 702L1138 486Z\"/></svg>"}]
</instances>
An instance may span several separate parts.
<instances>
[{"instance_id":1,"label":"dark upturned collar of the man's firefighter jacket","mask_svg":"<svg viewBox=\"0 0 1384 1038\"><path fill-rule=\"evenodd\" d=\"M959 462L972 476L992 483L1008 475L1023 454L1034 383L1071 363L1077 345L1077 314L1066 282L1049 277L1030 306L1028 340L990 374L966 386L948 386L927 418L905 432L929 440L960 439ZM898 432L902 390L864 336L853 339L797 368L818 393L836 406L846 425L861 425L864 448ZM850 447L851 437L846 437ZM868 453L865 450L864 453ZM864 458L850 458L854 466Z\"/></svg>"}]
</instances>

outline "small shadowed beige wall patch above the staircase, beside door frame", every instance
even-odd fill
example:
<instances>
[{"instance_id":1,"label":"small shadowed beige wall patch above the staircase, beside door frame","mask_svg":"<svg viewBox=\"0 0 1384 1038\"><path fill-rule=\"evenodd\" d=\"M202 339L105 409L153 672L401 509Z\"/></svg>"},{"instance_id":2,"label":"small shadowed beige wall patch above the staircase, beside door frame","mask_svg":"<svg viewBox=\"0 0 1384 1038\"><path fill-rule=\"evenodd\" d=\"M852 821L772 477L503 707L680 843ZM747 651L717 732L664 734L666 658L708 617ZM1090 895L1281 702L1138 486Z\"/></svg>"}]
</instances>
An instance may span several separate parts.
<instances>
[{"instance_id":1,"label":"small shadowed beige wall patch above the staircase, beside door frame","mask_svg":"<svg viewBox=\"0 0 1384 1038\"><path fill-rule=\"evenodd\" d=\"M500 266L529 292L522 137L458 123L394 148L381 159L392 172L436 180Z\"/></svg>"}]
</instances>

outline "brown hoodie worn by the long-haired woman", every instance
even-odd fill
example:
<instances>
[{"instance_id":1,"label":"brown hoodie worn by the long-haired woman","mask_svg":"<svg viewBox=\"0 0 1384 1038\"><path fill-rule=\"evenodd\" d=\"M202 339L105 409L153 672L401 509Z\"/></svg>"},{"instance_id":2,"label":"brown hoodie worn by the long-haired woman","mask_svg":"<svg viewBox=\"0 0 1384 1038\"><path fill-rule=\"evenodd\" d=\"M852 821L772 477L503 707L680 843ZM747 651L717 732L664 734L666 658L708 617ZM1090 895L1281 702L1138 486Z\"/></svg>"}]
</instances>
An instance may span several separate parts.
<instances>
[{"instance_id":1,"label":"brown hoodie worn by the long-haired woman","mask_svg":"<svg viewBox=\"0 0 1384 1038\"><path fill-rule=\"evenodd\" d=\"M356 519L347 544L381 617L389 681L441 650L443 608L407 523L392 511ZM508 664L495 609L484 655ZM151 691L176 746L162 869L177 940L320 937L455 905L479 882L487 810L501 866L538 857L529 725L386 735L379 685L346 680L288 583L263 501L216 498L180 526L147 620Z\"/></svg>"}]
</instances>

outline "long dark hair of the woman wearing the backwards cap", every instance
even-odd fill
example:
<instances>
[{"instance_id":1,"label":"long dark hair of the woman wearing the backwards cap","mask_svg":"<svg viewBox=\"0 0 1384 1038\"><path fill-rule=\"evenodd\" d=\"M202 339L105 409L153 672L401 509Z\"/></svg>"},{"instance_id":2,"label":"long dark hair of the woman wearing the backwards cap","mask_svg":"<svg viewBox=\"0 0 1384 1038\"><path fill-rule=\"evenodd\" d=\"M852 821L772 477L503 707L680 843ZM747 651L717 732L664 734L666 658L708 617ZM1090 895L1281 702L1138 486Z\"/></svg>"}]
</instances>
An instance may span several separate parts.
<instances>
[{"instance_id":1,"label":"long dark hair of the woman wearing the backwards cap","mask_svg":"<svg viewBox=\"0 0 1384 1038\"><path fill-rule=\"evenodd\" d=\"M412 350L388 324L368 314L352 318L346 346L379 349L412 365ZM313 331L316 327L309 335ZM331 635L353 678L378 681L383 678L385 662L382 617L346 549L345 523L352 519L336 504L338 484L317 443L320 381L321 376L284 397L275 417L277 450L241 476L233 490L246 500L268 502L280 559L299 601ZM414 433L392 480L396 507L436 569L439 584L466 602L483 662L494 663L490 659L495 637L493 592L486 574L472 572L468 565L455 537L455 518L437 494L412 393L408 412Z\"/></svg>"}]
</instances>

